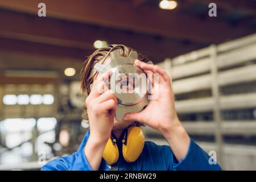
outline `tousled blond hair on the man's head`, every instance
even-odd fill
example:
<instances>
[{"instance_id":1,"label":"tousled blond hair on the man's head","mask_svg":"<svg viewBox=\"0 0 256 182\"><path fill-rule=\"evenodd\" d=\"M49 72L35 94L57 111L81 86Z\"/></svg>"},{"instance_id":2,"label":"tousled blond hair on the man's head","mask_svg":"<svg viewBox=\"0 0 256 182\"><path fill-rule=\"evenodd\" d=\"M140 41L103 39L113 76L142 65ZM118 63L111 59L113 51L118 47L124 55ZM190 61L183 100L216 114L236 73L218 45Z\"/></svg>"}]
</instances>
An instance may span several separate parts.
<instances>
[{"instance_id":1,"label":"tousled blond hair on the man's head","mask_svg":"<svg viewBox=\"0 0 256 182\"><path fill-rule=\"evenodd\" d=\"M117 50L119 56L127 57L131 51L135 51L130 47L124 46L122 44L112 44L102 48L97 49L92 53L92 55L88 56L87 59L82 64L81 69L81 90L83 94L90 94L90 84L93 83L93 79L97 76L98 72L94 69L94 65L100 61L102 64L105 63L106 58L110 55L110 52ZM147 56L142 53L138 53L138 60L147 63L150 61ZM88 114L86 112L86 105L82 107L84 112L82 114L82 118L88 120Z\"/></svg>"}]
</instances>

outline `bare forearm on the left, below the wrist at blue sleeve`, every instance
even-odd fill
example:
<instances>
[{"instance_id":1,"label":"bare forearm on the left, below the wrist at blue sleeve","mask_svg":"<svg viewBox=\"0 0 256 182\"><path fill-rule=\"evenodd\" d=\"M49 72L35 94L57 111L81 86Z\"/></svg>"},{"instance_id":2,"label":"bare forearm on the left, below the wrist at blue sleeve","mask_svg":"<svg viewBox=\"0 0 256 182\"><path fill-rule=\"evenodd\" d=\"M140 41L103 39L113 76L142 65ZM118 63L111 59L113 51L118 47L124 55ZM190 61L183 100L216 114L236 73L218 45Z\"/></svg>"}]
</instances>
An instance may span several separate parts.
<instances>
[{"instance_id":1,"label":"bare forearm on the left, below the wrist at blue sleeve","mask_svg":"<svg viewBox=\"0 0 256 182\"><path fill-rule=\"evenodd\" d=\"M102 154L105 148L107 140L97 140L90 136L88 141L84 147L85 156L94 170L98 170L100 168Z\"/></svg>"}]
</instances>

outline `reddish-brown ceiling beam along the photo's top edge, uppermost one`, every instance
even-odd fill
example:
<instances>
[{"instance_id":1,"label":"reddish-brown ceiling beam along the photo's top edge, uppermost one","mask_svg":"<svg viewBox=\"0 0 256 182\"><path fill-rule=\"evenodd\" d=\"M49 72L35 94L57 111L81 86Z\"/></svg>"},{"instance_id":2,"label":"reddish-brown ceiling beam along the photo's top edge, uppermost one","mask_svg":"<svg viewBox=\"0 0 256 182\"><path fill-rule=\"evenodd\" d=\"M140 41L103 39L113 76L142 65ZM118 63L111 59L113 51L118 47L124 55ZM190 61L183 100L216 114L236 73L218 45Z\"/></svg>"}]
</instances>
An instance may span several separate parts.
<instances>
[{"instance_id":1,"label":"reddish-brown ceiling beam along the photo's top edge, uppermost one","mask_svg":"<svg viewBox=\"0 0 256 182\"><path fill-rule=\"evenodd\" d=\"M2 0L0 7L37 16L40 0ZM72 20L82 23L93 23L100 26L121 28L177 38L199 43L220 43L228 39L253 33L243 27L232 27L216 21L205 14L201 20L177 11L161 10L158 7L141 6L136 8L129 1L77 0L44 0L47 17ZM39 17L38 17L39 18Z\"/></svg>"}]
</instances>

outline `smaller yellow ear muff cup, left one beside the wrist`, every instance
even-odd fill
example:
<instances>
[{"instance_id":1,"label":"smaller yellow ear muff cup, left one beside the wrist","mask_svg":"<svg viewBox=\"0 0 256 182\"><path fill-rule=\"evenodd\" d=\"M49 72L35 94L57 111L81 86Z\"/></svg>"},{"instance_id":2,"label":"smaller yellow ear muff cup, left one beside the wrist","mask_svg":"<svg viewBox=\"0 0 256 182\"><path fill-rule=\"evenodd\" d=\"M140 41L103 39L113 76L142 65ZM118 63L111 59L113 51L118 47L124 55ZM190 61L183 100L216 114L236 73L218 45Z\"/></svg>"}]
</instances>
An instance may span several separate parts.
<instances>
[{"instance_id":1,"label":"smaller yellow ear muff cup, left one beside the wrist","mask_svg":"<svg viewBox=\"0 0 256 182\"><path fill-rule=\"evenodd\" d=\"M109 165L116 163L119 158L119 151L118 151L117 144L115 143L113 144L110 138L106 143L102 157L106 160L106 163L108 163Z\"/></svg>"}]
</instances>

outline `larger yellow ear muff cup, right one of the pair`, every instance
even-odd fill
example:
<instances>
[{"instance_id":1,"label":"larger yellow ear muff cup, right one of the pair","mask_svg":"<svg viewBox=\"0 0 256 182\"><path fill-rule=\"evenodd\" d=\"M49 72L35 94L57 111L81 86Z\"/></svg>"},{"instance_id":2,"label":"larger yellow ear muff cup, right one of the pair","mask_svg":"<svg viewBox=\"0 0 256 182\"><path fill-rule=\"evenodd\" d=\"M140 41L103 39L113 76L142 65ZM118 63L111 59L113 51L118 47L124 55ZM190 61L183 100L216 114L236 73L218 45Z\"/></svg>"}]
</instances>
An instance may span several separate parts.
<instances>
[{"instance_id":1,"label":"larger yellow ear muff cup, right one of the pair","mask_svg":"<svg viewBox=\"0 0 256 182\"><path fill-rule=\"evenodd\" d=\"M124 143L124 142L123 142ZM139 158L144 147L144 135L140 127L132 126L127 133L126 144L123 144L123 158L126 162L134 162Z\"/></svg>"}]
</instances>

